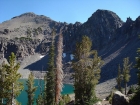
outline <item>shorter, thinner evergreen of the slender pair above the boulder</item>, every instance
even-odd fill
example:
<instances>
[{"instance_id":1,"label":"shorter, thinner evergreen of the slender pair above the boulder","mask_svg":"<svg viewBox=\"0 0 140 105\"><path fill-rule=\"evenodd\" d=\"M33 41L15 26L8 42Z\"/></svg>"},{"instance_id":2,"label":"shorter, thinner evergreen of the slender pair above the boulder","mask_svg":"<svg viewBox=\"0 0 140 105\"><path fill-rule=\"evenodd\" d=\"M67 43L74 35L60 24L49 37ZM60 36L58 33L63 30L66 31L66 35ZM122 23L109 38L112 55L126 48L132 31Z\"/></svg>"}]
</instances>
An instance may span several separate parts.
<instances>
[{"instance_id":1,"label":"shorter, thinner evergreen of the slender pair above the boulder","mask_svg":"<svg viewBox=\"0 0 140 105\"><path fill-rule=\"evenodd\" d=\"M120 67L120 65L118 66L118 76L116 78L116 81L117 81L118 90L122 92L122 88L121 88L122 73L121 73L121 67Z\"/></svg>"}]
</instances>

